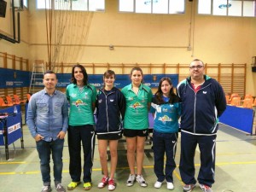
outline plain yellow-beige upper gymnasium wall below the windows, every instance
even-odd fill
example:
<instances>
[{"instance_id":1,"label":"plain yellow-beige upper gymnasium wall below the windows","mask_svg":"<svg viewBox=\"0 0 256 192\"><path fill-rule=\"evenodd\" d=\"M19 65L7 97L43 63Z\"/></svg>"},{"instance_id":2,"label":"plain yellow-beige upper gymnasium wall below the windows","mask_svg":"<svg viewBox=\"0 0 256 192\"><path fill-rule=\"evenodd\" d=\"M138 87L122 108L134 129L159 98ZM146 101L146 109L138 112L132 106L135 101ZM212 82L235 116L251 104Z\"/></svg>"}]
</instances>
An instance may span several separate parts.
<instances>
[{"instance_id":1,"label":"plain yellow-beige upper gymnasium wall below the windows","mask_svg":"<svg viewBox=\"0 0 256 192\"><path fill-rule=\"evenodd\" d=\"M21 13L21 44L0 40L0 51L27 56L32 65L35 60L48 61L48 52L45 12L35 9L35 1L29 3L29 13ZM256 73L251 72L256 18L197 15L196 3L186 1L185 15L119 13L118 0L106 0L104 13L67 13L67 26L57 29L63 32L57 60L189 64L200 58L211 64L247 63L246 92L256 96ZM0 32L12 34L7 11L8 17L0 18Z\"/></svg>"}]
</instances>

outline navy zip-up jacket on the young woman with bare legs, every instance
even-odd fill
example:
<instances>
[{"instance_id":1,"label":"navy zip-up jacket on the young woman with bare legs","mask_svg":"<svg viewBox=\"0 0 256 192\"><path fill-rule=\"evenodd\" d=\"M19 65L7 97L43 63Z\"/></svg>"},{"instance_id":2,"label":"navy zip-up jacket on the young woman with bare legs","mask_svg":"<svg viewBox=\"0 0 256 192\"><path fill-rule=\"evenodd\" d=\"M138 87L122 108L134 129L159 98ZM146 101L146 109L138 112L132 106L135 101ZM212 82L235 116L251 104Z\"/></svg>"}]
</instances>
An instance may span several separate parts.
<instances>
[{"instance_id":1,"label":"navy zip-up jacket on the young woman with bare legs","mask_svg":"<svg viewBox=\"0 0 256 192\"><path fill-rule=\"evenodd\" d=\"M96 96L96 134L119 133L125 117L125 96L115 87L106 95L100 89Z\"/></svg>"}]
</instances>

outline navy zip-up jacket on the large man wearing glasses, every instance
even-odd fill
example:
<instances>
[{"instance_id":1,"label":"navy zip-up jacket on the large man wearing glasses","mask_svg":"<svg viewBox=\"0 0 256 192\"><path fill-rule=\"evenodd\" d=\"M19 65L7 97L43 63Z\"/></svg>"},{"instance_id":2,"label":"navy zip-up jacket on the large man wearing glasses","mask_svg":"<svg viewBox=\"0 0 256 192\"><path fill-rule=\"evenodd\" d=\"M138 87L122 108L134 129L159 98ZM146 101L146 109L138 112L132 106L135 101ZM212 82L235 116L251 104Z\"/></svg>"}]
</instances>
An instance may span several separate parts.
<instances>
[{"instance_id":1,"label":"navy zip-up jacket on the large man wearing glasses","mask_svg":"<svg viewBox=\"0 0 256 192\"><path fill-rule=\"evenodd\" d=\"M215 79L204 75L205 82L195 92L191 78L177 85L177 95L182 100L181 131L193 135L215 135L218 117L226 109L224 90Z\"/></svg>"}]
</instances>

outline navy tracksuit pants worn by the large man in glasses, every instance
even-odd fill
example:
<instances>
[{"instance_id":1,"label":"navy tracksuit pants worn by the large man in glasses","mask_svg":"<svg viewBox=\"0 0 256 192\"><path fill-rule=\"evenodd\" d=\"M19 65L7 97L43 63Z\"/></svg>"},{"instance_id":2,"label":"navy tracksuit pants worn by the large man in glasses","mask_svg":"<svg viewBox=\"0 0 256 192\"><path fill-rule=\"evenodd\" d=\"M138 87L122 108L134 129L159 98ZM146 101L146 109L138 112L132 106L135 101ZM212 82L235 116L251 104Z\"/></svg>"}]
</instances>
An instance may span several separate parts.
<instances>
[{"instance_id":1,"label":"navy tracksuit pants worn by the large man in glasses","mask_svg":"<svg viewBox=\"0 0 256 192\"><path fill-rule=\"evenodd\" d=\"M183 183L195 184L195 148L200 149L201 166L197 180L201 184L212 187L215 174L216 135L196 136L181 131L181 156L179 172Z\"/></svg>"}]
</instances>

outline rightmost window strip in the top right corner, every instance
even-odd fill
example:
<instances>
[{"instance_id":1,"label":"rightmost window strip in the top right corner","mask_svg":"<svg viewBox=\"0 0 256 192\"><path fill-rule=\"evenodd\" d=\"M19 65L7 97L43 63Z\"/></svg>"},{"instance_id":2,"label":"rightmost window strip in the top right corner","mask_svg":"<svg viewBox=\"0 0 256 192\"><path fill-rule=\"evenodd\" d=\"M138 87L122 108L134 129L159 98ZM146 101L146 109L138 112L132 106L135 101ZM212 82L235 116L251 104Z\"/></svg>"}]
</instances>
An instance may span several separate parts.
<instances>
[{"instance_id":1,"label":"rightmost window strip in the top right corner","mask_svg":"<svg viewBox=\"0 0 256 192\"><path fill-rule=\"evenodd\" d=\"M198 14L255 17L256 0L199 0Z\"/></svg>"}]
</instances>

